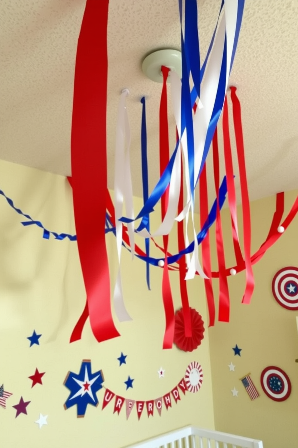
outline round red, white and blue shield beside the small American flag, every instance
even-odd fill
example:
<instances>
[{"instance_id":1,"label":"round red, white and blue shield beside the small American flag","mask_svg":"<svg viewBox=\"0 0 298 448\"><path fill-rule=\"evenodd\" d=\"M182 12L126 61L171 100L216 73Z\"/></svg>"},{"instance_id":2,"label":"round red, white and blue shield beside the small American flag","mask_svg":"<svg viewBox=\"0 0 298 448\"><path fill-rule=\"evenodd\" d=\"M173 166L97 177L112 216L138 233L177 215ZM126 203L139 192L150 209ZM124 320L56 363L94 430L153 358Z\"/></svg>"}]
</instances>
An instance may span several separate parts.
<instances>
[{"instance_id":1,"label":"round red, white and blue shield beside the small American flag","mask_svg":"<svg viewBox=\"0 0 298 448\"><path fill-rule=\"evenodd\" d=\"M279 367L266 367L261 373L261 386L271 400L285 401L291 393L291 382L284 370Z\"/></svg>"}]
</instances>

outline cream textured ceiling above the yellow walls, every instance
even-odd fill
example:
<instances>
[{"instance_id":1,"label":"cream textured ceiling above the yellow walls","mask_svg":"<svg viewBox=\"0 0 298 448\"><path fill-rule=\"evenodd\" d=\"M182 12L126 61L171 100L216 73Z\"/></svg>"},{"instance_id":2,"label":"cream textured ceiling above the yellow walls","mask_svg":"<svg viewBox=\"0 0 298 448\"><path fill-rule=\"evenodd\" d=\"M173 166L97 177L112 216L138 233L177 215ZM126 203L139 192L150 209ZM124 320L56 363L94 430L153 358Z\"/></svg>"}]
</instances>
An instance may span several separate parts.
<instances>
[{"instance_id":1,"label":"cream textured ceiling above the yellow walls","mask_svg":"<svg viewBox=\"0 0 298 448\"><path fill-rule=\"evenodd\" d=\"M198 2L203 55L220 3ZM84 6L84 0L0 0L0 159L63 175L71 173L73 79ZM151 188L159 172L161 84L145 78L141 63L152 50L180 48L178 16L177 0L110 0L109 186L113 187L118 98L128 87L133 189L137 196L142 195L139 99L143 95L147 98ZM297 0L246 1L230 85L238 87L242 105L251 199L298 188L297 38ZM172 118L170 121L173 147L175 129ZM209 183L212 188L211 176Z\"/></svg>"}]
</instances>

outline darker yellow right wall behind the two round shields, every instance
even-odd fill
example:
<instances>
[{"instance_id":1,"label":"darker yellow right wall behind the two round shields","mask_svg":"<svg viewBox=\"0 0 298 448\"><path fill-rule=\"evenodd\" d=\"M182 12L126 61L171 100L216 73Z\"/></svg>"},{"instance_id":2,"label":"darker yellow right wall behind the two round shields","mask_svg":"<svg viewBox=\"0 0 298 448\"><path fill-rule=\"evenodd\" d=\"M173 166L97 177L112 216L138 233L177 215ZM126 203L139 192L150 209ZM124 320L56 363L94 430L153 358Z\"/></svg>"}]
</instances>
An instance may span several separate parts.
<instances>
[{"instance_id":1,"label":"darker yellow right wall behind the two round shields","mask_svg":"<svg viewBox=\"0 0 298 448\"><path fill-rule=\"evenodd\" d=\"M297 192L285 195L289 211ZM275 197L252 202L252 250L256 251L269 231ZM240 217L241 209L238 208ZM222 213L227 266L235 263L231 243L231 218ZM242 224L240 224L242 228ZM231 321L217 323L209 330L210 357L214 394L214 420L219 431L263 439L264 448L298 446L298 311L285 310L273 298L274 274L286 266L298 266L298 218L267 254L254 265L256 288L250 305L242 305L244 274L229 277ZM228 243L229 241L229 243ZM218 286L218 281L214 281ZM241 358L232 347L242 348ZM235 372L228 364L235 364ZM281 367L289 375L292 394L281 403L269 399L260 386L260 374L266 366ZM251 401L239 378L251 372L260 397ZM231 389L239 390L233 397Z\"/></svg>"}]
</instances>

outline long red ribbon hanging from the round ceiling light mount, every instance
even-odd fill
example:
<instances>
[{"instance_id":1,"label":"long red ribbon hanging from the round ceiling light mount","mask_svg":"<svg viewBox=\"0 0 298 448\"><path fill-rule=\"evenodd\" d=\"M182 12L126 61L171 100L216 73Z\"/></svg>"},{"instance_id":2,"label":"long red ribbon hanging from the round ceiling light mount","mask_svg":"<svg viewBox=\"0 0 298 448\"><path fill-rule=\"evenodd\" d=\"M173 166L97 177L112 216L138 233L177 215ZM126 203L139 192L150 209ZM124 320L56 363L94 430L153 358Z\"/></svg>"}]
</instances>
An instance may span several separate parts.
<instances>
[{"instance_id":1,"label":"long red ribbon hanging from the round ceiling light mount","mask_svg":"<svg viewBox=\"0 0 298 448\"><path fill-rule=\"evenodd\" d=\"M169 161L169 141L168 141L168 100L167 100L167 79L170 69L161 67L163 73L163 88L160 97L159 107L159 168L160 176L163 174ZM161 219L164 220L168 208L169 187L161 197ZM171 284L168 273L168 235L163 235L164 242L164 270L162 280L162 295L164 302L164 313L166 318L166 327L164 332L163 349L172 349L175 330L175 311L172 299Z\"/></svg>"}]
</instances>

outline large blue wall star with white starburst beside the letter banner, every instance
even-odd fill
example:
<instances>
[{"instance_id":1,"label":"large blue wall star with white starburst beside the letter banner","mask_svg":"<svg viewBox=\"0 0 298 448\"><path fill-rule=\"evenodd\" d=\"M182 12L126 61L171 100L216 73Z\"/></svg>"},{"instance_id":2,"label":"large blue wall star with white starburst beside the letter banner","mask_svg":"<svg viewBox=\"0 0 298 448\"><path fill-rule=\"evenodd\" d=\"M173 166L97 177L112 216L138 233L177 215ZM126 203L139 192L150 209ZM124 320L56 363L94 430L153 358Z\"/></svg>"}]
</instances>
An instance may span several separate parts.
<instances>
[{"instance_id":1,"label":"large blue wall star with white starburst beside the letter banner","mask_svg":"<svg viewBox=\"0 0 298 448\"><path fill-rule=\"evenodd\" d=\"M104 381L102 371L92 373L90 359L83 359L80 373L68 372L64 380L64 386L71 391L64 404L64 409L76 405L77 417L84 417L88 404L98 405L96 392L102 388Z\"/></svg>"}]
</instances>

